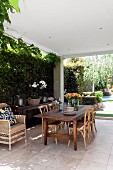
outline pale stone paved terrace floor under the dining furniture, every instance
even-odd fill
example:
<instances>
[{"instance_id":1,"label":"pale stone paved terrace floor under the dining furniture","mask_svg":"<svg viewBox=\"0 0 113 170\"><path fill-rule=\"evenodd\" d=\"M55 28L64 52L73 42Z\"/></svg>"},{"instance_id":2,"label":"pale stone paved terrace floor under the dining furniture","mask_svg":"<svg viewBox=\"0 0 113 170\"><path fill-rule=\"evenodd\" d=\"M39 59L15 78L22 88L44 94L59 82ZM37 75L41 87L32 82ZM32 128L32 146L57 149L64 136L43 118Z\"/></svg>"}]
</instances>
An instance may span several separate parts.
<instances>
[{"instance_id":1,"label":"pale stone paved terrace floor under the dining furniture","mask_svg":"<svg viewBox=\"0 0 113 170\"><path fill-rule=\"evenodd\" d=\"M96 120L96 137L84 150L82 137L78 137L78 150L73 143L53 139L44 146L39 135L41 125L27 130L24 141L7 145L0 144L0 170L113 170L113 120Z\"/></svg>"}]
</instances>

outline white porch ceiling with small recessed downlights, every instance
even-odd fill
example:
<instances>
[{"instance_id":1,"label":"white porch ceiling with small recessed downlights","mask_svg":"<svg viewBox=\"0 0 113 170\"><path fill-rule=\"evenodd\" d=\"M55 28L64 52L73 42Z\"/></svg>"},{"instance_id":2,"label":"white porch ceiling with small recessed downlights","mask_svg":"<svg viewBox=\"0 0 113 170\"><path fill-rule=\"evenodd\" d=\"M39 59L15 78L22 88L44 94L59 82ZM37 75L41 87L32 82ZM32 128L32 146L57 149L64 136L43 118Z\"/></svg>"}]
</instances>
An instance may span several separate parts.
<instances>
[{"instance_id":1,"label":"white porch ceiling with small recessed downlights","mask_svg":"<svg viewBox=\"0 0 113 170\"><path fill-rule=\"evenodd\" d=\"M6 33L65 57L113 53L113 0L20 0Z\"/></svg>"}]
</instances>

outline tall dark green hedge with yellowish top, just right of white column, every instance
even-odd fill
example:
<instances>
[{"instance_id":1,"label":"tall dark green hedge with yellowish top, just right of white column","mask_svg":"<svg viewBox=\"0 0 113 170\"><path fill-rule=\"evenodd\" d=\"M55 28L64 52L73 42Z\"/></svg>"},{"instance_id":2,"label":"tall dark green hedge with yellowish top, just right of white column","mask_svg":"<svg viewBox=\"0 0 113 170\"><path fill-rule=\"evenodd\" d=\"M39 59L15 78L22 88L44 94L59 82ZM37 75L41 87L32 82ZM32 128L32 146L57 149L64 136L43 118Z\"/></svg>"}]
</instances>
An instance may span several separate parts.
<instances>
[{"instance_id":1,"label":"tall dark green hedge with yellowish top, just right of white column","mask_svg":"<svg viewBox=\"0 0 113 170\"><path fill-rule=\"evenodd\" d=\"M83 58L66 59L64 64L64 87L67 92L83 91L83 73L84 62Z\"/></svg>"}]
</instances>

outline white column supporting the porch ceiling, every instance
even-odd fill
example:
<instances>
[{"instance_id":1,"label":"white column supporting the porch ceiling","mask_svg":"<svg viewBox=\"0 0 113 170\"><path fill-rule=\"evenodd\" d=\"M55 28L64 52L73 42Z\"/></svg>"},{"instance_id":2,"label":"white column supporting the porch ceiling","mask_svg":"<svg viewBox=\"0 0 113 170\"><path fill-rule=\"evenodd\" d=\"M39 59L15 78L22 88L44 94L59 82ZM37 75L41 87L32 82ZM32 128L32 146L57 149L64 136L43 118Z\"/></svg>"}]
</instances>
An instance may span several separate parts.
<instances>
[{"instance_id":1,"label":"white column supporting the porch ceiling","mask_svg":"<svg viewBox=\"0 0 113 170\"><path fill-rule=\"evenodd\" d=\"M64 102L64 65L63 65L63 57L61 57L61 62L60 62L60 98L61 98L61 102Z\"/></svg>"}]
</instances>

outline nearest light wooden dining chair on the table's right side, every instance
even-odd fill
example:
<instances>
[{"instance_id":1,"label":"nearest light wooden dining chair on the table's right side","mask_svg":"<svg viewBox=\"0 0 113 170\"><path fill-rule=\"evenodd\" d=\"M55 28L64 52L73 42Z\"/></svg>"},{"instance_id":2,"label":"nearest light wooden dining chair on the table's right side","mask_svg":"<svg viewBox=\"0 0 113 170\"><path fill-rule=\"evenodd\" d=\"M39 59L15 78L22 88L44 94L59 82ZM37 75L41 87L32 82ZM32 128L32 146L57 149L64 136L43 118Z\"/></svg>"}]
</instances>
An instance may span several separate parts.
<instances>
[{"instance_id":1,"label":"nearest light wooden dining chair on the table's right side","mask_svg":"<svg viewBox=\"0 0 113 170\"><path fill-rule=\"evenodd\" d=\"M91 116L91 109L86 110L84 113L83 121L77 122L77 132L80 132L83 140L84 140L84 147L86 149L86 134L88 135L88 141L90 142L90 116ZM69 135L73 133L73 124L69 125ZM70 139L68 141L68 147L70 146Z\"/></svg>"}]
</instances>

